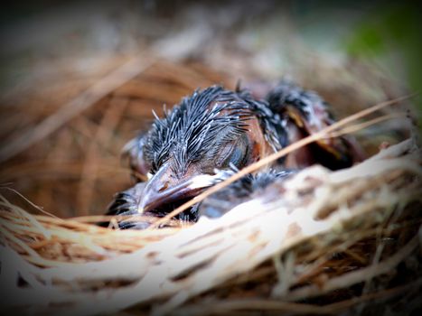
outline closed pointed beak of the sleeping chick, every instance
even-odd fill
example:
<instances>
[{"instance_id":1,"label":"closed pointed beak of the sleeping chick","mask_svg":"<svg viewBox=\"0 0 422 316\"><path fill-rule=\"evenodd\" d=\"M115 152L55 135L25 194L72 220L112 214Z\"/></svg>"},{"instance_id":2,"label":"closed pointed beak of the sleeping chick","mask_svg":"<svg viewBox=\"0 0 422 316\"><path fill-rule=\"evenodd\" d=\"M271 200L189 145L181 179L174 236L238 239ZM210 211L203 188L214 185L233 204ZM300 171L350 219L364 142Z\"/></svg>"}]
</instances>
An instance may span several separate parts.
<instances>
[{"instance_id":1,"label":"closed pointed beak of the sleeping chick","mask_svg":"<svg viewBox=\"0 0 422 316\"><path fill-rule=\"evenodd\" d=\"M144 213L168 203L193 198L220 180L219 174L197 174L174 181L168 168L163 167L147 182L139 201L138 212Z\"/></svg>"}]
</instances>

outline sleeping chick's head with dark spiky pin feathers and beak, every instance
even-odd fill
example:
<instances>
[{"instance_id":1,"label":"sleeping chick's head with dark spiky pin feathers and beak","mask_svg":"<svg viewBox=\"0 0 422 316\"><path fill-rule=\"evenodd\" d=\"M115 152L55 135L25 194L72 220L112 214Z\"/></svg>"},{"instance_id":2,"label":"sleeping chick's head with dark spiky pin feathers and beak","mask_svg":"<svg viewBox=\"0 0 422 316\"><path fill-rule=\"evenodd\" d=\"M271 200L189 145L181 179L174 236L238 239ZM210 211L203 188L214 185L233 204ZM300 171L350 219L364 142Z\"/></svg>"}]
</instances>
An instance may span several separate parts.
<instances>
[{"instance_id":1,"label":"sleeping chick's head with dark spiky pin feathers and beak","mask_svg":"<svg viewBox=\"0 0 422 316\"><path fill-rule=\"evenodd\" d=\"M221 87L195 91L127 145L131 168L148 179L138 211L178 206L272 151L256 104Z\"/></svg>"}]
</instances>

